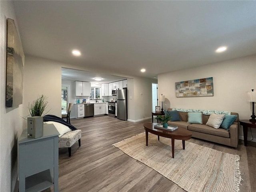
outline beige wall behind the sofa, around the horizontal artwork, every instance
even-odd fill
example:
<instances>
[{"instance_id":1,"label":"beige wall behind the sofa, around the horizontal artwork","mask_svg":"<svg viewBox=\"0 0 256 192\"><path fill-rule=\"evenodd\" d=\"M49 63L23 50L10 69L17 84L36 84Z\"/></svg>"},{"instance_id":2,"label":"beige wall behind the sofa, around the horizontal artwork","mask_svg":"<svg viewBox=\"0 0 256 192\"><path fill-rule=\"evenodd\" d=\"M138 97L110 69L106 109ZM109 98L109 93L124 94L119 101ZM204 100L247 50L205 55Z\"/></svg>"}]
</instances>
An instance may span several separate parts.
<instances>
[{"instance_id":1,"label":"beige wall behind the sofa, around the horizontal artwork","mask_svg":"<svg viewBox=\"0 0 256 192\"><path fill-rule=\"evenodd\" d=\"M206 77L213 77L214 96L176 97L175 82ZM158 75L158 94L165 95L165 109L226 110L237 112L240 119L248 119L252 103L246 102L245 92L251 89L256 89L256 55ZM255 138L256 130L252 131ZM240 136L243 136L241 128Z\"/></svg>"}]
</instances>

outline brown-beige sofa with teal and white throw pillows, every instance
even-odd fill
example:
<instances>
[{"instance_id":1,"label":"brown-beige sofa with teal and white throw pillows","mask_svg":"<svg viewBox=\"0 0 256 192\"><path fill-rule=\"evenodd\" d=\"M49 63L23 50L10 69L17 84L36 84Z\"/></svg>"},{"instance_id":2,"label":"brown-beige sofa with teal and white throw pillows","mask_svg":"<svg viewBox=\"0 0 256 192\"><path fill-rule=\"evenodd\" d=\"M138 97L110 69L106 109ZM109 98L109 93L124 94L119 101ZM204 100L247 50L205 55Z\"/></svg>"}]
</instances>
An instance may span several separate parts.
<instances>
[{"instance_id":1,"label":"brown-beige sofa with teal and white throw pillows","mask_svg":"<svg viewBox=\"0 0 256 192\"><path fill-rule=\"evenodd\" d=\"M168 108L168 110L172 110ZM169 121L168 124L179 126L190 130L192 137L199 138L219 144L227 145L236 148L238 145L238 113L231 112L231 115L237 115L235 122L230 126L230 130L222 128L212 128L206 125L210 115L203 114L203 124L190 124L188 121L187 112L178 112L181 121Z\"/></svg>"}]
</instances>

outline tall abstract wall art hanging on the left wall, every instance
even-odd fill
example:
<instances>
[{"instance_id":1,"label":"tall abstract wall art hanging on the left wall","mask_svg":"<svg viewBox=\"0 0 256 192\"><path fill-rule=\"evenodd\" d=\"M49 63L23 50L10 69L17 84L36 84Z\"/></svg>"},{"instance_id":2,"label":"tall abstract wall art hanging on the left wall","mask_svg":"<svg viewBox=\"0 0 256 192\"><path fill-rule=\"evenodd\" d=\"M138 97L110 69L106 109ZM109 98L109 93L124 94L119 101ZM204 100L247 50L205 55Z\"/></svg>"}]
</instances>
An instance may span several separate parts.
<instances>
[{"instance_id":1,"label":"tall abstract wall art hanging on the left wall","mask_svg":"<svg viewBox=\"0 0 256 192\"><path fill-rule=\"evenodd\" d=\"M14 20L7 19L6 107L22 104L24 52Z\"/></svg>"}]
</instances>

